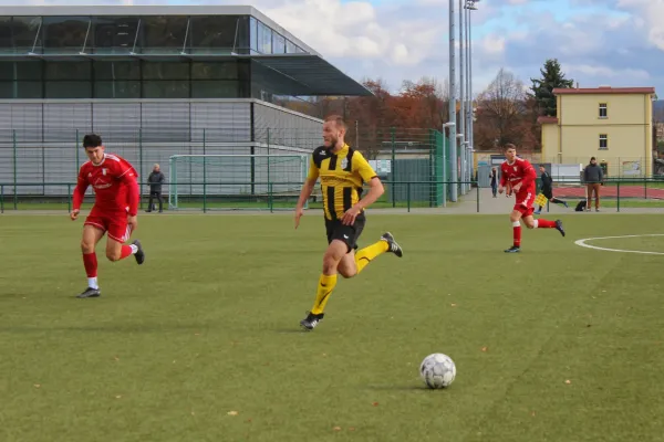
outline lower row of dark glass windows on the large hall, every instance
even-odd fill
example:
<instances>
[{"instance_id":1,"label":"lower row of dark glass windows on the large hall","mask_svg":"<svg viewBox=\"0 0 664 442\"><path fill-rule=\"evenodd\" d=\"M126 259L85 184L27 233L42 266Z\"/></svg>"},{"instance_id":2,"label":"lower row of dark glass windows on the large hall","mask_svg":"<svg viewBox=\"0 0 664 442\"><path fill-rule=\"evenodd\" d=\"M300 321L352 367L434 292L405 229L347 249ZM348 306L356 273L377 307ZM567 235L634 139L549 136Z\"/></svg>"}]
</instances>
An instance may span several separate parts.
<instances>
[{"instance_id":1,"label":"lower row of dark glass windows on the large hall","mask_svg":"<svg viewBox=\"0 0 664 442\"><path fill-rule=\"evenodd\" d=\"M249 60L0 61L0 99L249 98Z\"/></svg>"}]
</instances>

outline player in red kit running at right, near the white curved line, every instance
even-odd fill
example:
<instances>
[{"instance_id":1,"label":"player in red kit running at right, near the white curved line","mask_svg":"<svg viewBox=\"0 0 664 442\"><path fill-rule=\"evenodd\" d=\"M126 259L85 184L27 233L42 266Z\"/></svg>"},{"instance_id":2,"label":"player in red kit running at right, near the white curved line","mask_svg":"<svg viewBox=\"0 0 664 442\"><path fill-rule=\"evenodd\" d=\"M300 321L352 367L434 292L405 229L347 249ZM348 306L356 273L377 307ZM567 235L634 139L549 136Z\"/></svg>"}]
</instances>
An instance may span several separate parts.
<instances>
[{"instance_id":1,"label":"player in red kit running at right, near the white curved line","mask_svg":"<svg viewBox=\"0 0 664 442\"><path fill-rule=\"evenodd\" d=\"M532 218L535 211L532 203L536 197L537 173L532 165L522 158L517 157L517 148L512 144L506 145L505 156L507 161L500 165L500 187L498 191L502 193L506 186L510 185L511 191L516 196L515 208L509 217L512 223L513 245L507 249L506 253L517 253L521 250L521 219L528 229L556 229L564 236L562 221L548 221Z\"/></svg>"}]
</instances>

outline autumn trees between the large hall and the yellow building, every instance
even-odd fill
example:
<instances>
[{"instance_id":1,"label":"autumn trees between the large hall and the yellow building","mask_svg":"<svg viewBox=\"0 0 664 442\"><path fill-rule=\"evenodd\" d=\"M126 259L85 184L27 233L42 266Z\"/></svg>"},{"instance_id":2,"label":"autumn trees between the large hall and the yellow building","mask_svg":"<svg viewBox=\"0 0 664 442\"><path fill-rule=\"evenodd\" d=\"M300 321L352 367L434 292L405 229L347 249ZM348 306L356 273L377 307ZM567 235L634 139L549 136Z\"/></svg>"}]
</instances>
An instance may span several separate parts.
<instances>
[{"instance_id":1,"label":"autumn trees between the large hall and the yellow building","mask_svg":"<svg viewBox=\"0 0 664 442\"><path fill-rule=\"evenodd\" d=\"M513 73L500 69L488 87L475 96L475 149L494 150L507 143L526 151L541 149L541 127L537 119L541 115L556 115L552 91L573 87L573 80L566 78L560 63L553 59L547 60L540 77L530 78L530 83L526 87ZM396 93L388 92L382 80L365 80L363 84L373 96L279 104L319 117L333 113L343 115L350 125L349 139L361 139L361 148L370 150L387 139L390 128L401 134L413 129L440 130L449 120L447 82L429 77L405 81Z\"/></svg>"}]
</instances>

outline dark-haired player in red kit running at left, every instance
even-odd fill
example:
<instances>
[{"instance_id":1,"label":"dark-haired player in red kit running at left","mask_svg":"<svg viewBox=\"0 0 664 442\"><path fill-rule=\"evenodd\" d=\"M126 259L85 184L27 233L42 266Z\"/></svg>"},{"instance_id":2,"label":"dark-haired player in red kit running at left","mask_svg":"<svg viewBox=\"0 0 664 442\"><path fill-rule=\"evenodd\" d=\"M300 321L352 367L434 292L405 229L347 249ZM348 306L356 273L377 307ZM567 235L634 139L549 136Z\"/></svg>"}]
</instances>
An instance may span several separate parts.
<instances>
[{"instance_id":1,"label":"dark-haired player in red kit running at left","mask_svg":"<svg viewBox=\"0 0 664 442\"><path fill-rule=\"evenodd\" d=\"M90 161L81 166L79 180L73 196L72 221L79 218L85 190L92 186L95 193L94 206L83 225L83 264L87 274L87 288L77 297L97 297L101 295L97 283L97 261L95 245L108 233L106 257L120 261L134 255L138 264L145 261L141 241L124 244L138 227L138 183L134 167L116 155L104 152L98 135L90 134L83 138L83 148Z\"/></svg>"}]
</instances>

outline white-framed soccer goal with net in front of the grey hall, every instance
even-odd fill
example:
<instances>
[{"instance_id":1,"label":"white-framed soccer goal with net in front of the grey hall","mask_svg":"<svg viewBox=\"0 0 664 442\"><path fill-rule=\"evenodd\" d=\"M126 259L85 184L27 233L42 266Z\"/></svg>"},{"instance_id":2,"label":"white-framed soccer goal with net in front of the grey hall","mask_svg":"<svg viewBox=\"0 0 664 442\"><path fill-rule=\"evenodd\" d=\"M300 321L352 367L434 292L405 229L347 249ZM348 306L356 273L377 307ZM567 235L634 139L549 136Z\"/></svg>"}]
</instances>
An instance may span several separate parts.
<instances>
[{"instance_id":1,"label":"white-framed soccer goal with net in front of the grey hall","mask_svg":"<svg viewBox=\"0 0 664 442\"><path fill-rule=\"evenodd\" d=\"M308 154L173 155L173 210L292 210L309 172Z\"/></svg>"}]
</instances>

